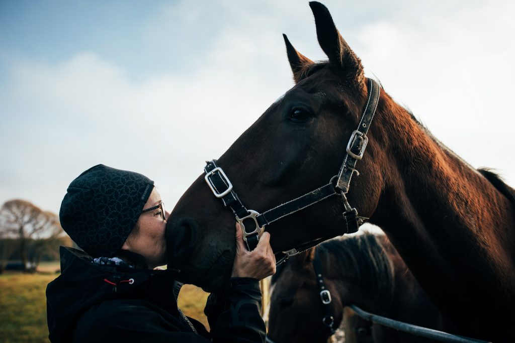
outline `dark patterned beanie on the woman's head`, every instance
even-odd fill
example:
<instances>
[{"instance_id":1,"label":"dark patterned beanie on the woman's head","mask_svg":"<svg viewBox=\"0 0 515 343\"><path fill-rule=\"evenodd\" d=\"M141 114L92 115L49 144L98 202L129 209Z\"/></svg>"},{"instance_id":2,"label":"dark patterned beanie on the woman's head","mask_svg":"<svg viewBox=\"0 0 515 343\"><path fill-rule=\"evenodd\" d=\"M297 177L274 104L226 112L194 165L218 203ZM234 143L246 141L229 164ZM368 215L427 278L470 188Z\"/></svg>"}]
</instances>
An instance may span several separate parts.
<instances>
[{"instance_id":1,"label":"dark patterned beanie on the woman's head","mask_svg":"<svg viewBox=\"0 0 515 343\"><path fill-rule=\"evenodd\" d=\"M140 218L154 182L97 165L72 181L59 211L61 226L93 257L112 257Z\"/></svg>"}]
</instances>

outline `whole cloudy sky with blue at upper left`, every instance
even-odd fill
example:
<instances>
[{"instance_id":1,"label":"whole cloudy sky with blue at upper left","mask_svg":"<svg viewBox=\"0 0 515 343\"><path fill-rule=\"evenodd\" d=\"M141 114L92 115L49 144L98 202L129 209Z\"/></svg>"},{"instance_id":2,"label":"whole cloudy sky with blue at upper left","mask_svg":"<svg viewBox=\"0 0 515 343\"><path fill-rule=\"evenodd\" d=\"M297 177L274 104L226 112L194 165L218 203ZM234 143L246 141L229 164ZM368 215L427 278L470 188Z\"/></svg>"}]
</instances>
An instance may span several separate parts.
<instances>
[{"instance_id":1,"label":"whole cloudy sky with blue at upper left","mask_svg":"<svg viewBox=\"0 0 515 343\"><path fill-rule=\"evenodd\" d=\"M367 76L515 186L515 2L322 3ZM307 1L0 0L0 204L57 213L105 164L153 179L170 210L294 85L282 33L327 59Z\"/></svg>"}]
</instances>

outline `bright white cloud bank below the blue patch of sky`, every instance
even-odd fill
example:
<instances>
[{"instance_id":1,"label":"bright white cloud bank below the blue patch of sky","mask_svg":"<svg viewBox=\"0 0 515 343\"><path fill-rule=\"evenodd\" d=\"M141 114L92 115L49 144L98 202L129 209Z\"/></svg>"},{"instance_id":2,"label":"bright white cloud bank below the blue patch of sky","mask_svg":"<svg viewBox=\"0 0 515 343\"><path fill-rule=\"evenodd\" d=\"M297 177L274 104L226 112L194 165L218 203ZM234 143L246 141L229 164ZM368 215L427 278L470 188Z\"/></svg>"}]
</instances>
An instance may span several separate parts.
<instances>
[{"instance_id":1,"label":"bright white cloud bank below the blue patch of sky","mask_svg":"<svg viewBox=\"0 0 515 343\"><path fill-rule=\"evenodd\" d=\"M428 6L421 14L419 5L398 2L396 15L375 13L379 20L349 27L339 21L349 9L327 3L367 73L469 163L499 168L515 185L513 5L468 4L459 11ZM71 179L104 163L155 179L170 209L203 161L220 156L292 85L281 33L304 55L324 58L307 4L224 6L220 13L230 18L203 28L217 32L206 50L181 56L190 60L187 70L134 80L130 70L91 51L60 63L27 58L10 65L0 94L0 143L8 147L0 152L7 161L0 201L23 197L57 211ZM149 34L180 9L163 11ZM197 17L186 18L190 28ZM197 42L180 43L188 44ZM213 130L220 122L222 135Z\"/></svg>"}]
</instances>

